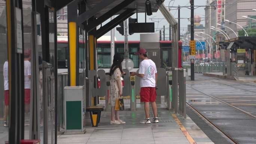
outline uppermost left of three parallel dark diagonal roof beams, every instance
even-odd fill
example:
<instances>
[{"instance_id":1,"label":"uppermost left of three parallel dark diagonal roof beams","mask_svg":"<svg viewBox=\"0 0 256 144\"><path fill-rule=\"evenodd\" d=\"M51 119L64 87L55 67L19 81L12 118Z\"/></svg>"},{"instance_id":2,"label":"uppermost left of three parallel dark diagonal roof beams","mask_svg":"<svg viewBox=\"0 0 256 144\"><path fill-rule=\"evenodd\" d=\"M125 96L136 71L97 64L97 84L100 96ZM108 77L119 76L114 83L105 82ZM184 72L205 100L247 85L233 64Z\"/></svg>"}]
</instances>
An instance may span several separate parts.
<instances>
[{"instance_id":1,"label":"uppermost left of three parallel dark diagonal roof beams","mask_svg":"<svg viewBox=\"0 0 256 144\"><path fill-rule=\"evenodd\" d=\"M116 0L103 0L100 3L98 3L96 6L94 6L92 9L87 10L86 12L82 13L77 17L77 23L82 24L87 19L91 18L95 15L95 13L99 12L100 10L107 7L109 4L112 4Z\"/></svg>"}]
</instances>

